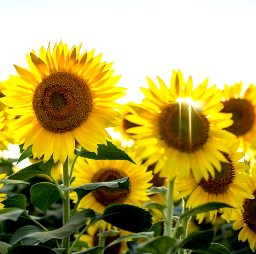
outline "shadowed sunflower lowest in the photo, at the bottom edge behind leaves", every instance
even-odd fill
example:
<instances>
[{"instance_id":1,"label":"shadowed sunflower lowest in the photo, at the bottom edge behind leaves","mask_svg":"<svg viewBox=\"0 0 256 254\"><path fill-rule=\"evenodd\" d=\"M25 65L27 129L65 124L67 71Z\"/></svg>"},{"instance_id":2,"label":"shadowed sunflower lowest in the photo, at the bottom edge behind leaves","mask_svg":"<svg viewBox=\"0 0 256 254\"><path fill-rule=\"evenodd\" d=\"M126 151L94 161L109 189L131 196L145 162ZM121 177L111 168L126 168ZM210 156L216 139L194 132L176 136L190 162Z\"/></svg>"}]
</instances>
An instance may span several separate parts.
<instances>
[{"instance_id":1,"label":"shadowed sunflower lowest in the photo, at the bottom edge behind leaves","mask_svg":"<svg viewBox=\"0 0 256 254\"><path fill-rule=\"evenodd\" d=\"M129 235L130 232L124 231L122 229L118 229L116 227L113 227L112 225L107 225L105 221L99 221L99 223L93 224L91 227L87 229L86 234L83 234L80 237L80 241L83 241L89 245L89 248L93 248L99 245L99 233L104 232L107 230L114 230L114 231L119 231L117 235L114 236L107 236L105 240L105 246L113 242L114 240L118 239L119 237ZM86 248L82 248L86 249ZM122 251L126 251L127 245L126 241L121 241L121 243L115 244L109 248L106 248L104 253L105 254L121 254Z\"/></svg>"}]
</instances>

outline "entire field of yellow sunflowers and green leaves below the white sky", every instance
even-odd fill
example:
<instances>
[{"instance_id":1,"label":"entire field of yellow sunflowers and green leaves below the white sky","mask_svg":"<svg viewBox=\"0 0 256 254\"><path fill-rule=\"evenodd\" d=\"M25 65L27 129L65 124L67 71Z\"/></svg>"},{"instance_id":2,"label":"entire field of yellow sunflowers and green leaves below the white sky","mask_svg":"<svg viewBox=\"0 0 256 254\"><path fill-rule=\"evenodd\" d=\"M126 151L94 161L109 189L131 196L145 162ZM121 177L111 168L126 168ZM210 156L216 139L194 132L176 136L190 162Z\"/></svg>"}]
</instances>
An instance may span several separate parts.
<instances>
[{"instance_id":1,"label":"entire field of yellow sunflowers and green leaves below the white sky","mask_svg":"<svg viewBox=\"0 0 256 254\"><path fill-rule=\"evenodd\" d=\"M0 83L0 253L253 253L256 86L173 70L122 104L81 47L31 50Z\"/></svg>"}]
</instances>

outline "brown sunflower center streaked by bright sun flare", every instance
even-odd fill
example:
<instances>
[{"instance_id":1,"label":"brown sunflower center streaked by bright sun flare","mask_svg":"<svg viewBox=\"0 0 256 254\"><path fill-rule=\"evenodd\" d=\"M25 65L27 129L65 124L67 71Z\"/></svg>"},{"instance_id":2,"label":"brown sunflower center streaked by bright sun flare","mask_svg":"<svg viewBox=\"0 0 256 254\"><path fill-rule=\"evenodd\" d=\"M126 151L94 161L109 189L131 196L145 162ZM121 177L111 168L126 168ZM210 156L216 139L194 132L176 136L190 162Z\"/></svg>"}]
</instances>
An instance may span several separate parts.
<instances>
[{"instance_id":1,"label":"brown sunflower center streaked by bright sun flare","mask_svg":"<svg viewBox=\"0 0 256 254\"><path fill-rule=\"evenodd\" d=\"M159 134L167 146L191 153L202 148L209 137L209 122L198 108L174 102L162 108Z\"/></svg>"}]
</instances>

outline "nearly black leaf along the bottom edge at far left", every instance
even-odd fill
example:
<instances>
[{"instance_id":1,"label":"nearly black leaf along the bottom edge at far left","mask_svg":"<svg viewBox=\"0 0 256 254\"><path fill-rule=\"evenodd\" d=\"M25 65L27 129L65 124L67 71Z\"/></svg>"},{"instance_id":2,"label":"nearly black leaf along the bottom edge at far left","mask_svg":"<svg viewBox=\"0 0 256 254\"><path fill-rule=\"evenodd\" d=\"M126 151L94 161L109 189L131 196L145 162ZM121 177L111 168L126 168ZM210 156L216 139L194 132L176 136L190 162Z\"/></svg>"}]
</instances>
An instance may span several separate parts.
<instances>
[{"instance_id":1,"label":"nearly black leaf along the bottom edge at far left","mask_svg":"<svg viewBox=\"0 0 256 254\"><path fill-rule=\"evenodd\" d=\"M21 254L21 253L47 253L56 254L57 252L46 246L36 245L16 245L10 247L6 254Z\"/></svg>"}]
</instances>

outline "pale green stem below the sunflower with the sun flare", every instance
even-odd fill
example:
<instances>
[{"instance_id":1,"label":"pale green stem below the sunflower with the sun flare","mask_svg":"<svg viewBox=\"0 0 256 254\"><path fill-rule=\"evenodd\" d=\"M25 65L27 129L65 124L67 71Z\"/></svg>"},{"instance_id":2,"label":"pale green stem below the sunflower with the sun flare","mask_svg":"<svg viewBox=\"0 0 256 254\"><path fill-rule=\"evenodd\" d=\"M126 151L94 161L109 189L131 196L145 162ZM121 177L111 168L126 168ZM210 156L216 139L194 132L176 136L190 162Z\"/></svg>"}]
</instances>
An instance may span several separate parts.
<instances>
[{"instance_id":1,"label":"pale green stem below the sunflower with the sun flare","mask_svg":"<svg viewBox=\"0 0 256 254\"><path fill-rule=\"evenodd\" d=\"M163 235L172 236L171 229L173 228L173 187L174 179L169 182L167 197L166 197L166 219L165 219L165 228Z\"/></svg>"}]
</instances>

